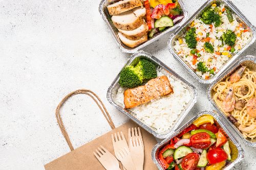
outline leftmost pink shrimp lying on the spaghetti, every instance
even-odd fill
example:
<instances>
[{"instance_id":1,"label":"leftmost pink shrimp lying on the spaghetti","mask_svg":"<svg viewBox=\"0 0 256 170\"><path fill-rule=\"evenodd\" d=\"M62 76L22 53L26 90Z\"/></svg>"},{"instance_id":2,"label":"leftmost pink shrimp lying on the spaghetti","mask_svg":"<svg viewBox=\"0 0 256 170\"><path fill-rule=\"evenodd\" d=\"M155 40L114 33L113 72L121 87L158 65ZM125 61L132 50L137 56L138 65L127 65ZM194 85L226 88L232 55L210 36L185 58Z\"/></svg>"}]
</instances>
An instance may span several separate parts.
<instances>
[{"instance_id":1,"label":"leftmost pink shrimp lying on the spaghetti","mask_svg":"<svg viewBox=\"0 0 256 170\"><path fill-rule=\"evenodd\" d=\"M225 112L231 112L232 110L234 110L235 104L236 104L236 100L234 100L233 87L230 86L228 89L227 96L222 103L222 108Z\"/></svg>"}]
</instances>

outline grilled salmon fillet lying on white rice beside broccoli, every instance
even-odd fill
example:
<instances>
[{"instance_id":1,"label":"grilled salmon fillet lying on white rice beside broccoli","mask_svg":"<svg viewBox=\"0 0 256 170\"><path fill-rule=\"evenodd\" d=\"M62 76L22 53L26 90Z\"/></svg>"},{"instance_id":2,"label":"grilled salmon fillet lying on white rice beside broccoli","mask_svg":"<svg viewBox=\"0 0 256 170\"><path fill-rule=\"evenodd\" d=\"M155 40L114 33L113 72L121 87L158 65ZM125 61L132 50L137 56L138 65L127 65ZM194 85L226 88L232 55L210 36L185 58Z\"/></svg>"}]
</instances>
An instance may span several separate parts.
<instances>
[{"instance_id":1,"label":"grilled salmon fillet lying on white rice beside broccoli","mask_svg":"<svg viewBox=\"0 0 256 170\"><path fill-rule=\"evenodd\" d=\"M173 93L173 87L170 85L166 76L160 76L151 79L144 86L139 86L124 91L125 109L133 108L143 103L150 102L161 95Z\"/></svg>"}]
</instances>

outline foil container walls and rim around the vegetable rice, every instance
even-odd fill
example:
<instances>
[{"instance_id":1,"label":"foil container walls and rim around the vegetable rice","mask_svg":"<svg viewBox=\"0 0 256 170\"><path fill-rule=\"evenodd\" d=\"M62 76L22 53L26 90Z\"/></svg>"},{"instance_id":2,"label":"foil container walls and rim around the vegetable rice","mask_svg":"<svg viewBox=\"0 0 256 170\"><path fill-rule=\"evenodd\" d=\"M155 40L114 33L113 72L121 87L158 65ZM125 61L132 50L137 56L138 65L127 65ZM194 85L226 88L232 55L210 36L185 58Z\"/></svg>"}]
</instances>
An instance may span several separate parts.
<instances>
[{"instance_id":1,"label":"foil container walls and rim around the vegetable rice","mask_svg":"<svg viewBox=\"0 0 256 170\"><path fill-rule=\"evenodd\" d=\"M182 60L182 58L175 52L174 49L174 44L175 41L182 35L185 34L186 28L191 24L191 22L194 19L197 19L198 17L201 16L201 14L212 4L214 3L224 3L225 6L227 6L234 14L236 14L236 18L238 21L243 23L243 26L247 28L251 34L252 34L252 39L251 41L246 44L236 55L234 55L230 60L228 60L222 68L219 70L219 72L214 75L211 79L209 80L204 80L200 76L196 74L196 72L190 67L189 64L187 64L185 61ZM239 58L239 55L246 50L256 39L256 28L251 24L251 22L242 14L242 12L233 5L231 1L228 0L208 0L202 7L199 8L199 10L192 15L174 34L171 34L169 39L168 39L168 50L169 52L174 56L174 58L185 68L191 76L193 76L194 79L198 80L200 83L203 84L210 84L214 82L220 75L221 73L226 70L229 65L233 62L236 61Z\"/></svg>"}]
</instances>

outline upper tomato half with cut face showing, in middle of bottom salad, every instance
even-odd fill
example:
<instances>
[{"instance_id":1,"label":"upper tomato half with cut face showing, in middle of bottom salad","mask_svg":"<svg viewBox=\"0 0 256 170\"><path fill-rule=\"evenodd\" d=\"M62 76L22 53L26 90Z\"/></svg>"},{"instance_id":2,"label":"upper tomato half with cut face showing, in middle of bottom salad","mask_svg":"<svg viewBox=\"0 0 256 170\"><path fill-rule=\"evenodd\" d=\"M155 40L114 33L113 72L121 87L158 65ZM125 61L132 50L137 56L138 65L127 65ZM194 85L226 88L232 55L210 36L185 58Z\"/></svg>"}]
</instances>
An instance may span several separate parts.
<instances>
[{"instance_id":1,"label":"upper tomato half with cut face showing, in middle of bottom salad","mask_svg":"<svg viewBox=\"0 0 256 170\"><path fill-rule=\"evenodd\" d=\"M205 132L196 133L190 137L190 142L194 148L208 148L210 145L210 135Z\"/></svg>"}]
</instances>

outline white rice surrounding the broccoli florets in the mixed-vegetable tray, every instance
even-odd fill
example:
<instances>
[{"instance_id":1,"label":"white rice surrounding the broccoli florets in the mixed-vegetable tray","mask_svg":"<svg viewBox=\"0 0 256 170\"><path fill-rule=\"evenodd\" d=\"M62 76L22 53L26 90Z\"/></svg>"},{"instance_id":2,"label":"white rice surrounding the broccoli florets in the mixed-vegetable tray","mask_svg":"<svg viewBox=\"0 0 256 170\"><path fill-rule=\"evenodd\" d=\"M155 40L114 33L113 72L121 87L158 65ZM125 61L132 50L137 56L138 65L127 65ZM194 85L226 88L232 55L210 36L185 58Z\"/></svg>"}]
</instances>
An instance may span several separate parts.
<instances>
[{"instance_id":1,"label":"white rice surrounding the broccoli florets in the mixed-vegetable tray","mask_svg":"<svg viewBox=\"0 0 256 170\"><path fill-rule=\"evenodd\" d=\"M215 8L215 7L211 7ZM224 8L224 4L220 5L220 9ZM226 10L220 14L222 24L219 27L215 27L214 23L212 23L212 30L210 29L209 25L206 25L200 18L195 19L191 22L190 27L196 28L197 37L200 39L197 42L196 49L201 55L201 57L197 58L197 62L193 65L193 55L190 55L191 48L188 48L185 42L185 35L179 38L179 40L175 41L174 49L176 53L187 63L189 64L194 70L197 69L198 62L206 63L206 66L209 69L215 69L215 74L222 68L223 64L226 63L233 55L238 53L238 51L243 48L248 42L250 42L252 33L250 31L244 32L244 28L240 27L240 22L237 21L236 16L233 15L233 22L229 22ZM235 51L231 53L227 50L228 45L222 46L222 41L219 38L225 33L227 30L232 30L237 35L237 40L234 44ZM206 38L206 34L209 33L210 43L214 47L214 53L207 53L204 52L204 43L201 40ZM201 51L202 50L202 51ZM221 55L217 55L215 52L220 52ZM196 70L196 74L202 77L202 79L210 79L213 75L206 72L202 74L201 71Z\"/></svg>"}]
</instances>

